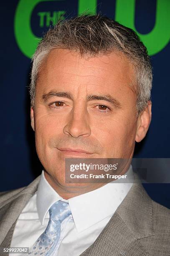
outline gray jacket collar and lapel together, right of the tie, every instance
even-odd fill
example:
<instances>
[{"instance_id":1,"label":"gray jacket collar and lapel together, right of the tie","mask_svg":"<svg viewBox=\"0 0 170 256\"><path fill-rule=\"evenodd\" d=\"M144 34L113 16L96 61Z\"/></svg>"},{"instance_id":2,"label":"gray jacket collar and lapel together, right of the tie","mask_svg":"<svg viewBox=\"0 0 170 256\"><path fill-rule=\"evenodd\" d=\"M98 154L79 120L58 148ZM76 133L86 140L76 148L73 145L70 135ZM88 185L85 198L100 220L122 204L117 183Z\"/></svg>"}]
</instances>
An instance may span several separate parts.
<instances>
[{"instance_id":1,"label":"gray jacket collar and lapel together, right of the tie","mask_svg":"<svg viewBox=\"0 0 170 256\"><path fill-rule=\"evenodd\" d=\"M152 200L142 184L134 183L96 241L81 256L146 256L141 238L154 236Z\"/></svg>"}]
</instances>

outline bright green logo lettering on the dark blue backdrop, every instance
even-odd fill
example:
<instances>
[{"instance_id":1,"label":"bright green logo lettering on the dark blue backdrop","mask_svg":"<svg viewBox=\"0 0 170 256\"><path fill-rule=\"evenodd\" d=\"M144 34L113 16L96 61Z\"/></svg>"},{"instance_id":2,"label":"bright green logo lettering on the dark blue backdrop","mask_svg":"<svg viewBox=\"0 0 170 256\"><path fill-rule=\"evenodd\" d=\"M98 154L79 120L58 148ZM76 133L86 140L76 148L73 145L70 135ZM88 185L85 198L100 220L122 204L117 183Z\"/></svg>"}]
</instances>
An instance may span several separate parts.
<instances>
[{"instance_id":1,"label":"bright green logo lettering on the dark blue backdrop","mask_svg":"<svg viewBox=\"0 0 170 256\"><path fill-rule=\"evenodd\" d=\"M38 3L47 1L64 1L64 0L20 0L15 12L14 33L15 38L20 48L20 51L30 58L41 38L37 38L30 26L30 19L33 9ZM116 0L115 20L122 23L124 26L134 29L140 36L141 40L148 49L150 55L154 55L161 51L170 40L169 24L170 24L170 1L157 0L155 26L147 34L140 34L134 26L136 0ZM78 0L78 15L85 10L91 13L96 13L97 0ZM64 10L51 12L39 12L39 26L49 27L51 21L53 24L59 18L63 19Z\"/></svg>"}]
</instances>

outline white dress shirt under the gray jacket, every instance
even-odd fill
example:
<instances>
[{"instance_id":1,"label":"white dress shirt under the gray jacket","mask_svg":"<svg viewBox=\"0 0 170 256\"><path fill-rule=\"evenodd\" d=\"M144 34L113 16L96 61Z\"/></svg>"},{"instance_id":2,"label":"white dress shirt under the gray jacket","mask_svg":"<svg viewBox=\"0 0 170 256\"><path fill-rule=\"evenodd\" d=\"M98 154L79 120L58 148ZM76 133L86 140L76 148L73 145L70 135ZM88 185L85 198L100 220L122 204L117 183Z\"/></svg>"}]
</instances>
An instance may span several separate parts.
<instances>
[{"instance_id":1,"label":"white dress shirt under the gray jacket","mask_svg":"<svg viewBox=\"0 0 170 256\"><path fill-rule=\"evenodd\" d=\"M79 256L94 243L132 187L132 165L126 175L126 183L118 183L119 179L118 182L113 181L64 200L47 182L42 171L37 191L19 215L10 246L31 247L48 225L49 208L54 202L62 200L69 202L71 215L61 223L59 246L52 256ZM16 253L10 255L21 256Z\"/></svg>"}]
</instances>

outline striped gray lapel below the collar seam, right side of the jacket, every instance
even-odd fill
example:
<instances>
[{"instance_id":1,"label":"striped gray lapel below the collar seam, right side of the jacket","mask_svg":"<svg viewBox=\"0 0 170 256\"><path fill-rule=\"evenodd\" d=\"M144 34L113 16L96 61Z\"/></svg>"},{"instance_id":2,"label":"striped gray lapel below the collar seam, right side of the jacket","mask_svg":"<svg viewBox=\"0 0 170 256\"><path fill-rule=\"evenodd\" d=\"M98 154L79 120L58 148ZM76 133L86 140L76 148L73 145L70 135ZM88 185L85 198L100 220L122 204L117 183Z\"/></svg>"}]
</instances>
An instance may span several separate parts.
<instances>
[{"instance_id":1,"label":"striped gray lapel below the collar seam, right side of the jacket","mask_svg":"<svg viewBox=\"0 0 170 256\"><path fill-rule=\"evenodd\" d=\"M96 241L81 256L147 256L145 248L137 240L120 216L115 212L112 220Z\"/></svg>"}]
</instances>

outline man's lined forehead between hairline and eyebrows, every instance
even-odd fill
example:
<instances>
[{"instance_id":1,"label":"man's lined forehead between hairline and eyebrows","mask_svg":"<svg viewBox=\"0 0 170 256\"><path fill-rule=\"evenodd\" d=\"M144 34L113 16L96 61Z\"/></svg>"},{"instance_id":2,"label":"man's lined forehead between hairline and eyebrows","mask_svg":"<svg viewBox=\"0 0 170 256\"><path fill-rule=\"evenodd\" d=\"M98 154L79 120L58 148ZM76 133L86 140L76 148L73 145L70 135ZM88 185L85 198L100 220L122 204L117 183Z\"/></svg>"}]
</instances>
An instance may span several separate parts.
<instances>
[{"instance_id":1,"label":"man's lined forehead between hairline and eyebrows","mask_svg":"<svg viewBox=\"0 0 170 256\"><path fill-rule=\"evenodd\" d=\"M86 89L131 90L134 68L121 52L85 58L78 52L53 49L41 64L38 83L44 91L66 86L67 90L86 85ZM55 88L56 89L56 88Z\"/></svg>"}]
</instances>

